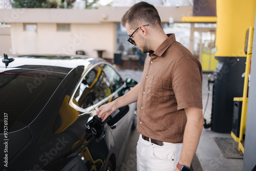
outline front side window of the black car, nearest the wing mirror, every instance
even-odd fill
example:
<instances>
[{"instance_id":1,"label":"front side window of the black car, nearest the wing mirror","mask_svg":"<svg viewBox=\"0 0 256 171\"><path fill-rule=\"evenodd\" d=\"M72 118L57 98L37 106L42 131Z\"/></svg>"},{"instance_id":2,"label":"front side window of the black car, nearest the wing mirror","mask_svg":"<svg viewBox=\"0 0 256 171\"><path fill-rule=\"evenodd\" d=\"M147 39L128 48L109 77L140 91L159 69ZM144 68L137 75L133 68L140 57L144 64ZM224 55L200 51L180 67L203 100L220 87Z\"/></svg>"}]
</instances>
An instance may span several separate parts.
<instances>
[{"instance_id":1,"label":"front side window of the black car, nearest the wing mirror","mask_svg":"<svg viewBox=\"0 0 256 171\"><path fill-rule=\"evenodd\" d=\"M120 75L109 65L102 65L103 71L108 77L112 90L115 92L123 85L123 80Z\"/></svg>"}]
</instances>

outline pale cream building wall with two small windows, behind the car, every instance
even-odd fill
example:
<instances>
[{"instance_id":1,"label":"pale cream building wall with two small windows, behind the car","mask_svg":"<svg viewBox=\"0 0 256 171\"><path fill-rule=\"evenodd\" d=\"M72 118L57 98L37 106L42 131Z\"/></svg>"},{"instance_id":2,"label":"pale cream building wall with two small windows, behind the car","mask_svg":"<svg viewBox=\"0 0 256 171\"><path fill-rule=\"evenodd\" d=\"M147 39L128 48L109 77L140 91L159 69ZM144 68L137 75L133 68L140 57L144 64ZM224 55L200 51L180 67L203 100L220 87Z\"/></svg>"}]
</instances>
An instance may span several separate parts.
<instances>
[{"instance_id":1,"label":"pale cream building wall with two small windows, behind the car","mask_svg":"<svg viewBox=\"0 0 256 171\"><path fill-rule=\"evenodd\" d=\"M96 49L105 50L103 57L115 53L116 24L71 24L70 31L57 31L56 24L37 24L37 31L24 31L23 23L11 24L13 54L75 54L97 56Z\"/></svg>"}]
</instances>

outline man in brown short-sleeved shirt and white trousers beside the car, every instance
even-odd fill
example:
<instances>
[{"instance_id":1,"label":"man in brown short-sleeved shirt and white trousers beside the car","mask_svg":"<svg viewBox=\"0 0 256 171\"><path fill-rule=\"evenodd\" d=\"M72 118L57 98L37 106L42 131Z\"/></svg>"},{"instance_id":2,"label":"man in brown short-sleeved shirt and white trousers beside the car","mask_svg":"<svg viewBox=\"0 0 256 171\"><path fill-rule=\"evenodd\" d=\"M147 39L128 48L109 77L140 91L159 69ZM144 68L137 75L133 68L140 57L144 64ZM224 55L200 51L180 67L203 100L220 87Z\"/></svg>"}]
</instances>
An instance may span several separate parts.
<instances>
[{"instance_id":1,"label":"man in brown short-sleeved shirt and white trousers beside the car","mask_svg":"<svg viewBox=\"0 0 256 171\"><path fill-rule=\"evenodd\" d=\"M138 101L137 170L190 170L203 128L201 64L174 34L164 33L154 6L135 4L121 24L127 40L149 54L141 82L96 115L104 120Z\"/></svg>"}]
</instances>

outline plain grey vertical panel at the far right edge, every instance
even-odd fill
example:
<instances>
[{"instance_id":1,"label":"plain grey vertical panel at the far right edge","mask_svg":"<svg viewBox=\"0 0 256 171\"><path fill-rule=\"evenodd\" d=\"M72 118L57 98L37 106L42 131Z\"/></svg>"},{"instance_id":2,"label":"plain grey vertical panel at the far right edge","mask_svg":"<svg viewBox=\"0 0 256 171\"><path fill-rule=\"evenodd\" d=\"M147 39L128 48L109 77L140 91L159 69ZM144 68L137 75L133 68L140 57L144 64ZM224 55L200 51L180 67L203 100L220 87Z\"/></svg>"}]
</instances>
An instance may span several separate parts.
<instances>
[{"instance_id":1,"label":"plain grey vertical panel at the far right edge","mask_svg":"<svg viewBox=\"0 0 256 171\"><path fill-rule=\"evenodd\" d=\"M256 17L255 17L256 24ZM256 165L256 25L254 26L250 89L248 95L243 170L252 170Z\"/></svg>"}]
</instances>

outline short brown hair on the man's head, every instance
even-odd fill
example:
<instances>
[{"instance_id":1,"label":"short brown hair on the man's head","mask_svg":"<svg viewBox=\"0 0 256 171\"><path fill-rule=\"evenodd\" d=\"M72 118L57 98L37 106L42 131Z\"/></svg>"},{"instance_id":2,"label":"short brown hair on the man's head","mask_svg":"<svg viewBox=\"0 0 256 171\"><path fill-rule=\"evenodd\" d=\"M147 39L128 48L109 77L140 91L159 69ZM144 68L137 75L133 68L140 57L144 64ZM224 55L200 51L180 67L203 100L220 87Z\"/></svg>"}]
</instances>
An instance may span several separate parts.
<instances>
[{"instance_id":1,"label":"short brown hair on the man's head","mask_svg":"<svg viewBox=\"0 0 256 171\"><path fill-rule=\"evenodd\" d=\"M157 9L146 2L137 3L124 13L121 25L125 27L126 23L130 25L131 29L136 29L140 25L146 24L162 28Z\"/></svg>"}]
</instances>

